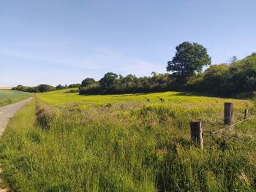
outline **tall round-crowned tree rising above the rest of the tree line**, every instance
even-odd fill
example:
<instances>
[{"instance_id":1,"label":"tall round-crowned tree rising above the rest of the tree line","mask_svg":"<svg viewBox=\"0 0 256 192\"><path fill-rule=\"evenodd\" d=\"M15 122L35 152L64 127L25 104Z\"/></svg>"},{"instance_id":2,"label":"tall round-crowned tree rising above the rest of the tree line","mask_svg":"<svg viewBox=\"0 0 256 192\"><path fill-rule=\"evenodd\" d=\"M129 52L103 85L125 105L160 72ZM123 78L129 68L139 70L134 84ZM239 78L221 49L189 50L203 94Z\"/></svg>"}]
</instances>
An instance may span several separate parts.
<instances>
[{"instance_id":1,"label":"tall round-crowned tree rising above the rest of the tree line","mask_svg":"<svg viewBox=\"0 0 256 192\"><path fill-rule=\"evenodd\" d=\"M203 66L211 64L211 57L202 45L195 42L183 42L176 47L176 55L172 61L167 62L167 72L173 72L178 82L182 84L189 77L202 72Z\"/></svg>"}]
</instances>

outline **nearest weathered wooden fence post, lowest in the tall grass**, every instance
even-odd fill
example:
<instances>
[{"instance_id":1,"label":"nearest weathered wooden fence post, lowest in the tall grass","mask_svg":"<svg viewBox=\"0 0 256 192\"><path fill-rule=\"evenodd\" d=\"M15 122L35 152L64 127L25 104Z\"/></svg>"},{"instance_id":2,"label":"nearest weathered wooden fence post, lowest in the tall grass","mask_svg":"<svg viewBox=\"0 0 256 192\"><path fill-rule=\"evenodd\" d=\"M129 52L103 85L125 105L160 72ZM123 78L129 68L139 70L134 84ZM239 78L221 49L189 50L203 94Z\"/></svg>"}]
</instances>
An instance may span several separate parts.
<instances>
[{"instance_id":1,"label":"nearest weathered wooden fence post, lowest in the tall grass","mask_svg":"<svg viewBox=\"0 0 256 192\"><path fill-rule=\"evenodd\" d=\"M190 134L192 141L203 150L203 127L200 121L190 122Z\"/></svg>"}]
</instances>

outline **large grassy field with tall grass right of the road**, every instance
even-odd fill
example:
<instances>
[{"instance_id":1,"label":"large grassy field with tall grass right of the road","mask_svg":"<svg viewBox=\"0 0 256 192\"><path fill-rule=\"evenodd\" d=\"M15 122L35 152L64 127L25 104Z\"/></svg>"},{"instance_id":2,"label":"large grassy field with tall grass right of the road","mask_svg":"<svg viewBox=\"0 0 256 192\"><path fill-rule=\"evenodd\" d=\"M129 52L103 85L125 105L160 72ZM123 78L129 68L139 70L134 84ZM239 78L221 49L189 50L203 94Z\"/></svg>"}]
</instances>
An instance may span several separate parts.
<instances>
[{"instance_id":1,"label":"large grassy field with tall grass right of the road","mask_svg":"<svg viewBox=\"0 0 256 192\"><path fill-rule=\"evenodd\" d=\"M0 141L1 176L14 191L255 191L256 121L223 128L252 101L165 92L79 96L37 93ZM205 149L192 145L201 120Z\"/></svg>"}]
</instances>

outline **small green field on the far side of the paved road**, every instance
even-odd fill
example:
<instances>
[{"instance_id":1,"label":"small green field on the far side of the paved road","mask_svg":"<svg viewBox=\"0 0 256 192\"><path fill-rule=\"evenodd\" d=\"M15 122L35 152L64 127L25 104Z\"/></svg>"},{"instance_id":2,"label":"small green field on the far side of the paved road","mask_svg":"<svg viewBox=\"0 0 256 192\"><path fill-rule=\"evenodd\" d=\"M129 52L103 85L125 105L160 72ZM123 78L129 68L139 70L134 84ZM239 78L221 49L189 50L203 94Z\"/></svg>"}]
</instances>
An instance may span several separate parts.
<instances>
[{"instance_id":1,"label":"small green field on the far side of the paved road","mask_svg":"<svg viewBox=\"0 0 256 192\"><path fill-rule=\"evenodd\" d=\"M31 93L12 90L0 90L0 107L23 100L29 96L31 96Z\"/></svg>"}]
</instances>

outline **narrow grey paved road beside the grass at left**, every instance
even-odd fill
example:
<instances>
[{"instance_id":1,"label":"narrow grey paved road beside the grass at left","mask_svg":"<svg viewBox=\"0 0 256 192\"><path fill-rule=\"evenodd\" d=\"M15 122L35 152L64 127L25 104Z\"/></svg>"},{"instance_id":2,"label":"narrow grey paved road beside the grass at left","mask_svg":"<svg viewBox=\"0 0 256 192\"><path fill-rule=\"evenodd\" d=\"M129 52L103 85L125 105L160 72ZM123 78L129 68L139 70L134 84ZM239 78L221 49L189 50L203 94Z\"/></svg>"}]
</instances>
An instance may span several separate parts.
<instances>
[{"instance_id":1,"label":"narrow grey paved road beside the grass at left","mask_svg":"<svg viewBox=\"0 0 256 192\"><path fill-rule=\"evenodd\" d=\"M31 99L32 98L30 97L29 99L25 99L18 103L0 107L0 137L4 133L4 129L6 128L9 119L12 118L13 115L15 115L15 112L20 110L20 107L23 107L24 104L31 101Z\"/></svg>"}]
</instances>

